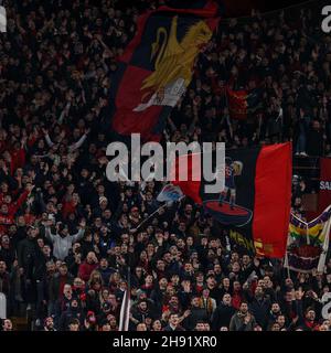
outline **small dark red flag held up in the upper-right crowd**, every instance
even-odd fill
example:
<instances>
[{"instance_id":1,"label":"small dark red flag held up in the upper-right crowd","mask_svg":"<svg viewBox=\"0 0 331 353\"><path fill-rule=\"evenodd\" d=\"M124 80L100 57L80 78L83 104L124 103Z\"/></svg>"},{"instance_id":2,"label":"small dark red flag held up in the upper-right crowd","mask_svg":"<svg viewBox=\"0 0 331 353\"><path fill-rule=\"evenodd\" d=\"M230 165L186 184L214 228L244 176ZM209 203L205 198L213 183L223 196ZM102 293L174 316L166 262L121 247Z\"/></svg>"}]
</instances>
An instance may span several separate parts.
<instances>
[{"instance_id":1,"label":"small dark red flag held up in the upper-right crowd","mask_svg":"<svg viewBox=\"0 0 331 353\"><path fill-rule=\"evenodd\" d=\"M250 114L255 114L263 107L263 89L226 89L227 106L232 119L245 120Z\"/></svg>"}]
</instances>

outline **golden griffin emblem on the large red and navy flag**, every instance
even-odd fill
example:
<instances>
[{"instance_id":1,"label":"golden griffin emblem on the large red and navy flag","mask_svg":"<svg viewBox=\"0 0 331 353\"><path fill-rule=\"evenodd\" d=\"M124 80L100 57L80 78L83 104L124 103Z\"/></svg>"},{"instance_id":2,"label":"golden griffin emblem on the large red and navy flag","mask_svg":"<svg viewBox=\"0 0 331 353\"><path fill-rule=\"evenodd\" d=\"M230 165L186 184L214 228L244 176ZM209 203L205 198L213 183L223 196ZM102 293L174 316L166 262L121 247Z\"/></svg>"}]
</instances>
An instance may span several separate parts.
<instances>
[{"instance_id":1,"label":"golden griffin emblem on the large red and navy flag","mask_svg":"<svg viewBox=\"0 0 331 353\"><path fill-rule=\"evenodd\" d=\"M213 32L204 21L190 26L178 41L178 17L171 22L170 33L159 28L151 46L150 61L156 61L154 72L143 82L141 104L135 111L142 111L153 105L175 106L192 78L194 61L209 43Z\"/></svg>"}]
</instances>

